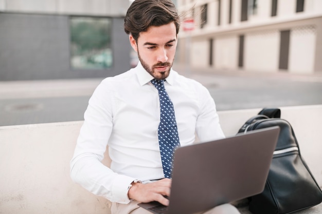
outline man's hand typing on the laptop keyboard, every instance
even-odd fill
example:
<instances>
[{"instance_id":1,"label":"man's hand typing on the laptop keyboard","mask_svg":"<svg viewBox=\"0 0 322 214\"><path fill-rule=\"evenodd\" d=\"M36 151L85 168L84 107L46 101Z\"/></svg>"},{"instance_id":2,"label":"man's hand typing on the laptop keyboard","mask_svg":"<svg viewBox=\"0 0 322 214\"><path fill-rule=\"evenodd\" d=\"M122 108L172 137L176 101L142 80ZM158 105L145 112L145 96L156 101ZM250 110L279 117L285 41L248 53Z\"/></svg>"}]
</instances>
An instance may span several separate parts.
<instances>
[{"instance_id":1,"label":"man's hand typing on the laptop keyboard","mask_svg":"<svg viewBox=\"0 0 322 214\"><path fill-rule=\"evenodd\" d=\"M132 183L129 189L129 199L138 202L157 201L163 205L168 206L169 200L164 196L170 196L171 179L162 179L148 184Z\"/></svg>"}]
</instances>

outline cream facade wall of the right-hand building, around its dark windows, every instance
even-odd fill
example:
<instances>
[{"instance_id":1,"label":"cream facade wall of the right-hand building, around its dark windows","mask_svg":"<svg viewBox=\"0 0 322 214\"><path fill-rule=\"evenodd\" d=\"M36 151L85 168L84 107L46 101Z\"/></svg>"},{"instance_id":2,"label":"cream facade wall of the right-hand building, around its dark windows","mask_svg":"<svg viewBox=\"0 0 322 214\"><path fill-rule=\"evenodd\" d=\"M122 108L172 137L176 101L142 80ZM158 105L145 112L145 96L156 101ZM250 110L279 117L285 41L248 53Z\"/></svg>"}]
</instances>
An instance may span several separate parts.
<instances>
[{"instance_id":1,"label":"cream facade wall of the right-hand building, around its dark windows","mask_svg":"<svg viewBox=\"0 0 322 214\"><path fill-rule=\"evenodd\" d=\"M242 69L256 72L283 71L311 74L322 71L320 60L322 57L322 1L306 0L304 11L298 13L296 13L296 0L277 1L276 16L271 16L272 1L257 1L257 14L249 15L248 20L244 22L241 22L242 1L232 0L231 2L231 23L228 24L229 0L221 0L220 25L218 25L218 0L196 2L195 7L197 8L208 3L208 21L204 28L196 26L192 32L189 32L189 35L192 41L198 41L198 44L200 44L199 41L213 39L213 50L216 52L213 54L214 63L212 65L209 64L209 60L195 60L195 66L214 70ZM178 5L179 11L193 6L191 1L185 1L186 5L182 5L183 1L178 3L181 3ZM195 16L195 20L200 18L198 13ZM287 40L290 44L281 48L280 31L285 30L291 32ZM226 42L236 35L244 35L243 67L238 67L235 63L238 61L238 58L236 59L239 51L238 44L236 48L232 48L236 42L229 45ZM186 37L187 33L181 31L180 40ZM280 56L280 49L286 50L285 47L288 47L288 50L282 51L283 55ZM202 55L198 55L198 59L208 59L209 49L209 47L204 47L204 50L199 50ZM229 60L226 59L228 49ZM182 49L178 52L183 54ZM286 52L288 55L285 54ZM190 58L194 55L191 53ZM182 58L177 59L177 62L184 63Z\"/></svg>"}]
</instances>

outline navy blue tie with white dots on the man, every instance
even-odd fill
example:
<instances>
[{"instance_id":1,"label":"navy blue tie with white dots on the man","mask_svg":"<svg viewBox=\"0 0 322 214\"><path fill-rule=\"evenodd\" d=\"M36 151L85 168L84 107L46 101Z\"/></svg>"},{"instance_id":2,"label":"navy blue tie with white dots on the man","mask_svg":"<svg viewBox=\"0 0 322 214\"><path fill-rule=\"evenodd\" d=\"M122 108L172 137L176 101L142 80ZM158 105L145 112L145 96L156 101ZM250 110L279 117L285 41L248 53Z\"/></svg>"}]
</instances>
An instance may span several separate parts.
<instances>
[{"instance_id":1,"label":"navy blue tie with white dots on the man","mask_svg":"<svg viewBox=\"0 0 322 214\"><path fill-rule=\"evenodd\" d=\"M173 104L165 89L164 80L153 79L151 83L157 88L160 99L158 139L163 172L165 178L171 178L173 152L176 147L180 146Z\"/></svg>"}]
</instances>

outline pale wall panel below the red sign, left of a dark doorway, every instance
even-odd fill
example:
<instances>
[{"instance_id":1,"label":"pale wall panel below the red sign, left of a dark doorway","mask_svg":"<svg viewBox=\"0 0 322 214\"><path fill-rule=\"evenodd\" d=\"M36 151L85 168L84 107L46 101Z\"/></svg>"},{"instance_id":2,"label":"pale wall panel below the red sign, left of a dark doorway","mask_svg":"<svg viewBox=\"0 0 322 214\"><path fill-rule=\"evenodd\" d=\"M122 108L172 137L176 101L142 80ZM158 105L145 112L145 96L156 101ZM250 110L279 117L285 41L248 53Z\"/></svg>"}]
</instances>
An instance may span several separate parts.
<instances>
[{"instance_id":1,"label":"pale wall panel below the red sign, left of a dark doorway","mask_svg":"<svg viewBox=\"0 0 322 214\"><path fill-rule=\"evenodd\" d=\"M190 47L191 66L206 67L209 64L209 41L193 41Z\"/></svg>"}]
</instances>

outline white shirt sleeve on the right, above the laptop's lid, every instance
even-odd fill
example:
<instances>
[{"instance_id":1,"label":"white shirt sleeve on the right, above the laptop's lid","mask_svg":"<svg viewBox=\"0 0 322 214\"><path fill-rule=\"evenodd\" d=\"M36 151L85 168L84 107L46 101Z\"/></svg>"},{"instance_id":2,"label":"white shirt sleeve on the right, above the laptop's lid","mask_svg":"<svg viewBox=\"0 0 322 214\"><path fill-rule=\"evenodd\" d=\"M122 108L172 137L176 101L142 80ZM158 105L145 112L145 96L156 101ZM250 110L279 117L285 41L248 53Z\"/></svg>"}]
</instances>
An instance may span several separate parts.
<instances>
[{"instance_id":1,"label":"white shirt sleeve on the right, above the laptop's lid","mask_svg":"<svg viewBox=\"0 0 322 214\"><path fill-rule=\"evenodd\" d=\"M200 112L196 122L196 134L199 141L208 142L225 138L213 98L204 86L199 90Z\"/></svg>"}]
</instances>

